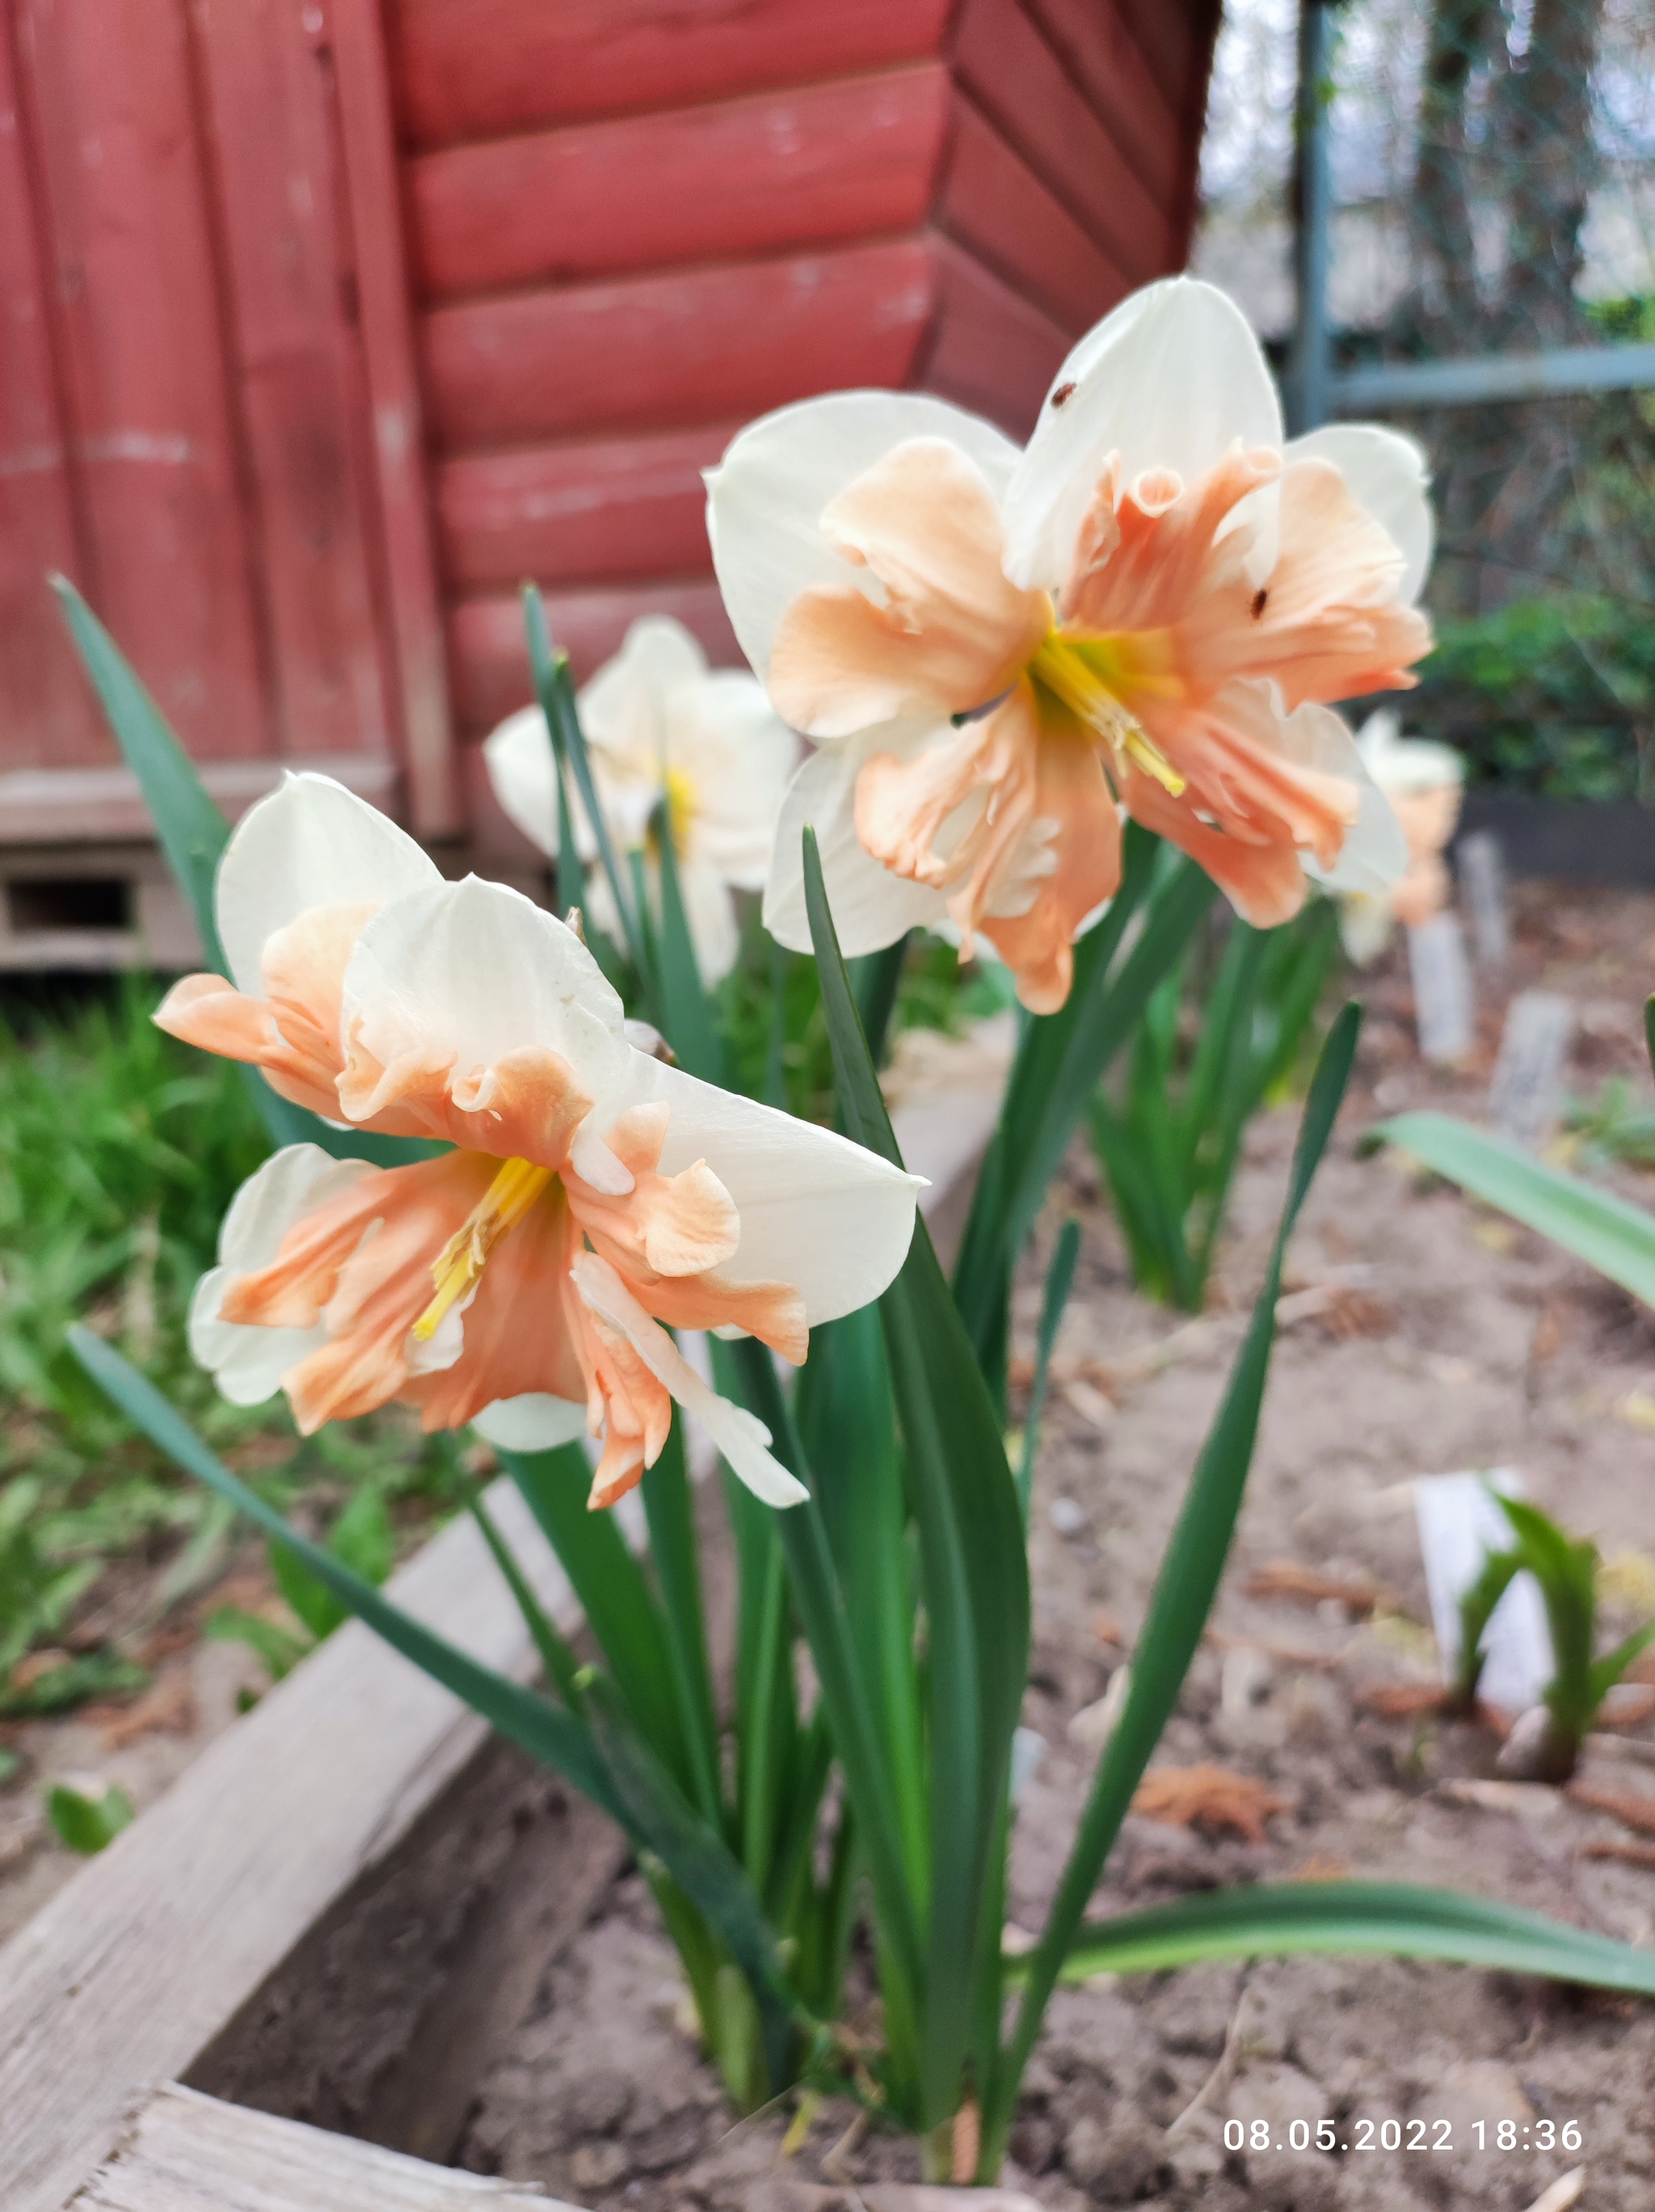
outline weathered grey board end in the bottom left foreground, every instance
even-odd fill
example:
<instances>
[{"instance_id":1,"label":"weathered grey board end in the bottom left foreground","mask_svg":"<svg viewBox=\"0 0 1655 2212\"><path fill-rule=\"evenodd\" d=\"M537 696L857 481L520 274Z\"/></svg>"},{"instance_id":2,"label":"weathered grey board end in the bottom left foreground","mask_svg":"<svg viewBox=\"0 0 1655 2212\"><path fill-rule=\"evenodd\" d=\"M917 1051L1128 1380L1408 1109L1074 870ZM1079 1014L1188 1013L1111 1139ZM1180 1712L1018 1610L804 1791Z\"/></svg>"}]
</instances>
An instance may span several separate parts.
<instances>
[{"instance_id":1,"label":"weathered grey board end in the bottom left foreground","mask_svg":"<svg viewBox=\"0 0 1655 2212\"><path fill-rule=\"evenodd\" d=\"M560 2212L555 2197L405 2159L168 2081L75 2212Z\"/></svg>"}]
</instances>

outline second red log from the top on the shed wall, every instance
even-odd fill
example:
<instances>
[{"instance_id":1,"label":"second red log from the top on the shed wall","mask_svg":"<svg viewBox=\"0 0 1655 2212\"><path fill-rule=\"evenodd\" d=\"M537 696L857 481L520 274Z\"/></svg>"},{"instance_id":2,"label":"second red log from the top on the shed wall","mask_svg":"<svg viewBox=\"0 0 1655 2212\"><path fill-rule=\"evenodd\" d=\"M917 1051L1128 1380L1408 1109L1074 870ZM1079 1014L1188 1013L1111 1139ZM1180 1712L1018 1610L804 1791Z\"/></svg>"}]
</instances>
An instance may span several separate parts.
<instances>
[{"instance_id":1,"label":"second red log from the top on the shed wall","mask_svg":"<svg viewBox=\"0 0 1655 2212\"><path fill-rule=\"evenodd\" d=\"M431 153L416 279L436 301L914 230L947 111L929 62Z\"/></svg>"}]
</instances>

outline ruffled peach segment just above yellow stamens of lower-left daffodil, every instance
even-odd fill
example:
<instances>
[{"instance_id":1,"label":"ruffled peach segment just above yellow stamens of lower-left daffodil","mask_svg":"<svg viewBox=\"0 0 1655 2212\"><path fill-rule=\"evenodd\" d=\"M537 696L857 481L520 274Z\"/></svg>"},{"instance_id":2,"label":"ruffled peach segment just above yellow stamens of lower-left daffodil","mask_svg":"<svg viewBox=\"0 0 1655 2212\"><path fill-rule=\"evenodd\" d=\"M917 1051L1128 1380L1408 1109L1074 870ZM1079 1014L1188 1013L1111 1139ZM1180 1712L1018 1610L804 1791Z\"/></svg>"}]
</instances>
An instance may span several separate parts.
<instances>
[{"instance_id":1,"label":"ruffled peach segment just above yellow stamens of lower-left daffodil","mask_svg":"<svg viewBox=\"0 0 1655 2212\"><path fill-rule=\"evenodd\" d=\"M352 1037L339 1106L361 1128L445 1137L496 1159L562 1168L593 1102L547 1046L527 1044L489 1068L456 1071L436 1046L383 1066Z\"/></svg>"}]
</instances>

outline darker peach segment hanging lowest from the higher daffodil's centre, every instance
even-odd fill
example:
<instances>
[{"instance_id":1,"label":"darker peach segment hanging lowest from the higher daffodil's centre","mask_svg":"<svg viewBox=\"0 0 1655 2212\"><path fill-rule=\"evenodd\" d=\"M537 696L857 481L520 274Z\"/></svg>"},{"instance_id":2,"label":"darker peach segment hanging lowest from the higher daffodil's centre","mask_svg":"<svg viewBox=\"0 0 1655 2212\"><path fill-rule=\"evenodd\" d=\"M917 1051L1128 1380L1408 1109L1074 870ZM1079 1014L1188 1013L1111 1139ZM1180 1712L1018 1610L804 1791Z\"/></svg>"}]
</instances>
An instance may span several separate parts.
<instances>
[{"instance_id":1,"label":"darker peach segment hanging lowest from the higher daffodil's centre","mask_svg":"<svg viewBox=\"0 0 1655 2212\"><path fill-rule=\"evenodd\" d=\"M989 918L982 933L1018 978L1031 1013L1055 1013L1075 973L1075 929L1120 887L1120 814L1089 732L1069 717L1040 730L1035 818L1055 821L1058 867L1027 914Z\"/></svg>"}]
</instances>

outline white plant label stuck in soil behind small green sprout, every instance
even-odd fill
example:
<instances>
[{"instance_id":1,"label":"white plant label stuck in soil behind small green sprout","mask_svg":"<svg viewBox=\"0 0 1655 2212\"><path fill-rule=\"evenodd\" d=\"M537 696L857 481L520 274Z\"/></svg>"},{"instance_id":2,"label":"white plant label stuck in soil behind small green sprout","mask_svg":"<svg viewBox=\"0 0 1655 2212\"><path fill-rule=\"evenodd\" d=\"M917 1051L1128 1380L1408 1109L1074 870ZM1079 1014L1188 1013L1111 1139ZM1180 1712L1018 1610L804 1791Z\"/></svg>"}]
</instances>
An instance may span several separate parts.
<instances>
[{"instance_id":1,"label":"white plant label stuck in soil behind small green sprout","mask_svg":"<svg viewBox=\"0 0 1655 2212\"><path fill-rule=\"evenodd\" d=\"M1489 1486L1507 1498L1522 1495L1522 1480L1509 1467L1496 1467L1489 1475L1420 1475L1414 1484L1432 1626L1443 1652L1443 1681L1449 1683L1460 1666L1460 1599L1482 1573L1487 1555L1509 1551L1516 1542ZM1482 1650L1480 1699L1513 1714L1538 1703L1555 1668L1547 1608L1533 1575L1511 1577L1482 1635Z\"/></svg>"}]
</instances>

